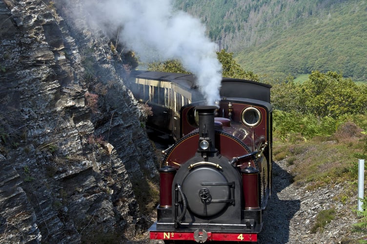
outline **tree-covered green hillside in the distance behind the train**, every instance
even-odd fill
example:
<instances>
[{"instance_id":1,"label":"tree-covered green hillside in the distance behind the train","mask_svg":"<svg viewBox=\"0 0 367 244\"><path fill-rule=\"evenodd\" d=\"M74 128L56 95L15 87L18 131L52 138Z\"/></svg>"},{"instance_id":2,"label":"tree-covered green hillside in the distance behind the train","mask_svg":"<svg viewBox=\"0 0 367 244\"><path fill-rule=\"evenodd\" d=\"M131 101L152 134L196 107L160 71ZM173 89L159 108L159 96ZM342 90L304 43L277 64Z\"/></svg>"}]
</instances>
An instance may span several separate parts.
<instances>
[{"instance_id":1,"label":"tree-covered green hillside in the distance behind the train","mask_svg":"<svg viewBox=\"0 0 367 244\"><path fill-rule=\"evenodd\" d=\"M176 0L248 71L297 77L312 70L367 81L365 0Z\"/></svg>"}]
</instances>

